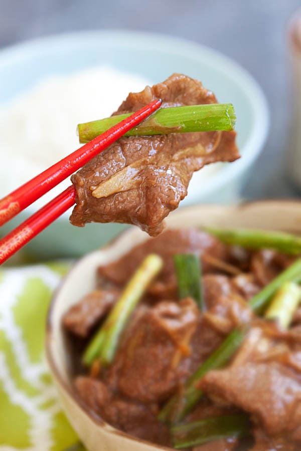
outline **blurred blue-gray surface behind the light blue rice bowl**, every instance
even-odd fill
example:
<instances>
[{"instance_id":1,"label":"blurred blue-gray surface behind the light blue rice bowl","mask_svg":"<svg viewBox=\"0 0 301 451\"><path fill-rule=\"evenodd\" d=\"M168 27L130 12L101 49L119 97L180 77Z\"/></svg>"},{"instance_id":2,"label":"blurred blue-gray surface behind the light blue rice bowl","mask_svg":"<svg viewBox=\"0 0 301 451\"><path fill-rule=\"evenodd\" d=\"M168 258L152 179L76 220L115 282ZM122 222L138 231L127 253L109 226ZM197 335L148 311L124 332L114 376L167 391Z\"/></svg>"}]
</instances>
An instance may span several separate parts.
<instances>
[{"instance_id":1,"label":"blurred blue-gray surface behind the light blue rice bowl","mask_svg":"<svg viewBox=\"0 0 301 451\"><path fill-rule=\"evenodd\" d=\"M164 32L223 52L258 80L271 110L268 141L243 194L297 196L284 170L289 126L285 32L297 8L301 0L0 0L0 47L64 31L123 28Z\"/></svg>"}]
</instances>

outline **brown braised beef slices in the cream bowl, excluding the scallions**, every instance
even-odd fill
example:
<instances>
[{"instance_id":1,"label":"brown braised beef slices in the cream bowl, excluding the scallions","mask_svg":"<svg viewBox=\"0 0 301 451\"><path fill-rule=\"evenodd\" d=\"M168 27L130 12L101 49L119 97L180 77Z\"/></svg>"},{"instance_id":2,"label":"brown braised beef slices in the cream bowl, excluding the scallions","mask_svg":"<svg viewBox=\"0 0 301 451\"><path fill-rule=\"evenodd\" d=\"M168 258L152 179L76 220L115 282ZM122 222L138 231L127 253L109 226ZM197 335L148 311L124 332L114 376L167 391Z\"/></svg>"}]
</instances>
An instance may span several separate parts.
<instances>
[{"instance_id":1,"label":"brown braised beef slices in the cream bowl, excluding the scallions","mask_svg":"<svg viewBox=\"0 0 301 451\"><path fill-rule=\"evenodd\" d=\"M94 415L131 435L172 447L168 427L157 419L160 409L173 394L181 392L187 378L226 334L248 323L249 332L232 361L224 369L209 371L199 382L205 396L185 421L227 412L247 413L252 438L247 447L230 437L193 451L301 449L298 317L284 332L259 319L248 306L250 298L292 259L270 251L243 251L201 231L175 229L98 268L99 286L71 307L63 319L69 338L77 337L83 345L142 259L156 253L164 262L160 275L131 315L111 365L93 375L85 368L76 369L75 388ZM204 312L193 299L179 300L177 296L173 256L192 252L202 264ZM215 260L209 264L207 256Z\"/></svg>"}]
</instances>

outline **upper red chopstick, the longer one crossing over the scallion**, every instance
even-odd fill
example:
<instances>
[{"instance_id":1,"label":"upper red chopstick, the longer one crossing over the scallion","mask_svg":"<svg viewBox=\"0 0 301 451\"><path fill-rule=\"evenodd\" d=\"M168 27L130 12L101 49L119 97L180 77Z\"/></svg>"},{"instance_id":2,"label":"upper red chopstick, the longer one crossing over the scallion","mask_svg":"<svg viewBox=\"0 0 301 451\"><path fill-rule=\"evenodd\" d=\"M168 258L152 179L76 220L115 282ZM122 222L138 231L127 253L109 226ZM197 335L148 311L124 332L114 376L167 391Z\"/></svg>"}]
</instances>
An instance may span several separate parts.
<instances>
[{"instance_id":1,"label":"upper red chopstick, the longer one crossing over the scallion","mask_svg":"<svg viewBox=\"0 0 301 451\"><path fill-rule=\"evenodd\" d=\"M124 133L138 125L143 119L161 106L161 100L154 100L128 118L111 127L92 141L84 144L67 157L55 163L41 174L29 180L15 191L0 199L0 226L16 216L28 205L39 199L58 183L77 171Z\"/></svg>"}]
</instances>

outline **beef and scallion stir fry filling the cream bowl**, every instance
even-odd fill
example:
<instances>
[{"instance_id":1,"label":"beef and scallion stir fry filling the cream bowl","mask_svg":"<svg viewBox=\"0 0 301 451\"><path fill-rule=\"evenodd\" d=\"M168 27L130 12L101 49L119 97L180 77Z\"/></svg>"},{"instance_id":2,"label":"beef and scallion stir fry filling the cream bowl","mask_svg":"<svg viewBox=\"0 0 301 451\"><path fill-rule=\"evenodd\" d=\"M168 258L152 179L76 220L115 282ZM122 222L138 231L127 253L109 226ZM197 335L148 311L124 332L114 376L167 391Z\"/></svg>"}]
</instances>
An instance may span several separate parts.
<instances>
[{"instance_id":1,"label":"beef and scallion stir fry filling the cream bowl","mask_svg":"<svg viewBox=\"0 0 301 451\"><path fill-rule=\"evenodd\" d=\"M171 448L300 449L300 250L286 234L175 229L99 267L63 318L82 401Z\"/></svg>"}]
</instances>

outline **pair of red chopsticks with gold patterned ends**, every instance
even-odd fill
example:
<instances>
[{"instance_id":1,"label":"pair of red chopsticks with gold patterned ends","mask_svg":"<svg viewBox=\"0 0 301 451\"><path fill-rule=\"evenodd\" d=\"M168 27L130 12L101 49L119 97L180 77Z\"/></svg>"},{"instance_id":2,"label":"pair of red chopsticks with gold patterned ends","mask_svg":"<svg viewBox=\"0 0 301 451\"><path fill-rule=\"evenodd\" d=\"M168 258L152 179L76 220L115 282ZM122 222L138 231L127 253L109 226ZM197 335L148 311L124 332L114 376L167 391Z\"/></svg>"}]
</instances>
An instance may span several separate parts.
<instances>
[{"instance_id":1,"label":"pair of red chopsticks with gold patterned ends","mask_svg":"<svg viewBox=\"0 0 301 451\"><path fill-rule=\"evenodd\" d=\"M161 103L161 100L150 102L1 199L0 226L69 177L143 119L154 113L161 106ZM0 240L0 265L67 211L75 203L75 198L76 190L71 185Z\"/></svg>"}]
</instances>

